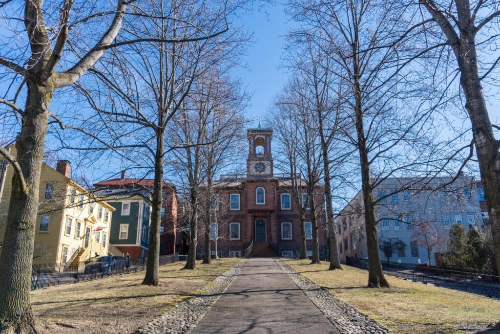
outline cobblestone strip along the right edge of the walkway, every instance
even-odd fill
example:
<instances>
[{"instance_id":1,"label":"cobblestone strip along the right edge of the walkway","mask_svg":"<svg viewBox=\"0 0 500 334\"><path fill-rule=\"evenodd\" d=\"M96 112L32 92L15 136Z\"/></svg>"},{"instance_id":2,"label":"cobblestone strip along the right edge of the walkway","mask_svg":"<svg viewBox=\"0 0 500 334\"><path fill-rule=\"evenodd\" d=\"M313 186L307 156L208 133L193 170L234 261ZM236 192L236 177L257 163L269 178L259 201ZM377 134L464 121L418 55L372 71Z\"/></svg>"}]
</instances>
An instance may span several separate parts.
<instances>
[{"instance_id":1,"label":"cobblestone strip along the right edge of the walkway","mask_svg":"<svg viewBox=\"0 0 500 334\"><path fill-rule=\"evenodd\" d=\"M340 333L381 334L390 332L385 326L341 301L328 289L296 272L288 264L279 259L275 259L275 261Z\"/></svg>"}]
</instances>

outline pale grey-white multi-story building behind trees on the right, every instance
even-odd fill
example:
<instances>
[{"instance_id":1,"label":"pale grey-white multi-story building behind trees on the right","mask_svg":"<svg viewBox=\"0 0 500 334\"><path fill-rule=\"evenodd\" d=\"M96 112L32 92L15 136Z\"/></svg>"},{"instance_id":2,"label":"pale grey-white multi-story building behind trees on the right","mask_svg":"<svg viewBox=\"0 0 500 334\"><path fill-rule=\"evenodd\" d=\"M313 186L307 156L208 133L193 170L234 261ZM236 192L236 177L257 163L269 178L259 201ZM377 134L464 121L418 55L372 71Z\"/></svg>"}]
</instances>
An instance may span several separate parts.
<instances>
[{"instance_id":1,"label":"pale grey-white multi-story building behind trees on the right","mask_svg":"<svg viewBox=\"0 0 500 334\"><path fill-rule=\"evenodd\" d=\"M431 230L434 235L430 237L438 236L437 243L445 247L447 231L452 224L463 224L467 232L471 225L482 222L474 178L460 176L451 181L451 177L419 182L416 178L387 178L374 189L374 199L380 199L375 206L379 243L385 240L404 244L392 252L391 262L428 263L427 249L419 245L421 242L417 241L416 234ZM336 216L335 224L340 260L367 257L360 191ZM432 249L431 264L435 264L436 251L442 249ZM379 253L380 259L386 260L384 252L379 250Z\"/></svg>"}]
</instances>

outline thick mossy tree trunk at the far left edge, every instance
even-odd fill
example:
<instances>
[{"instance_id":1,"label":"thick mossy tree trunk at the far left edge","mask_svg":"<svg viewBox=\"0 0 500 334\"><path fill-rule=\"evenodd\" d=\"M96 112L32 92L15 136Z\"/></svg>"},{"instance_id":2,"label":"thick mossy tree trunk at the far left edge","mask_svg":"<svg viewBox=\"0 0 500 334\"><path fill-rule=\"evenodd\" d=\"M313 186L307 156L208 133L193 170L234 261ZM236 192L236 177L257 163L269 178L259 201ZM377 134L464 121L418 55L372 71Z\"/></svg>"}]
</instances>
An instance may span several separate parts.
<instances>
[{"instance_id":1,"label":"thick mossy tree trunk at the far left edge","mask_svg":"<svg viewBox=\"0 0 500 334\"><path fill-rule=\"evenodd\" d=\"M52 90L27 80L26 116L16 140L18 174L12 176L5 235L0 256L0 331L35 332L31 312L31 268L43 147Z\"/></svg>"}]
</instances>

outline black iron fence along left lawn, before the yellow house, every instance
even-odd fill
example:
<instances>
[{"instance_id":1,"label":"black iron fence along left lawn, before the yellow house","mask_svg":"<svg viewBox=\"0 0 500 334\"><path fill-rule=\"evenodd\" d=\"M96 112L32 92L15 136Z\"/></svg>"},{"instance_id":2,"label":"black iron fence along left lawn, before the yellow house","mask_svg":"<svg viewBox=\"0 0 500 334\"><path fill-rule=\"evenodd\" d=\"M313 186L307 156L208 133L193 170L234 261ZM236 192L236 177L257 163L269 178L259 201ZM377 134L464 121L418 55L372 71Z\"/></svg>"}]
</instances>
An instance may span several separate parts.
<instances>
[{"instance_id":1,"label":"black iron fence along left lawn, before the yellow house","mask_svg":"<svg viewBox=\"0 0 500 334\"><path fill-rule=\"evenodd\" d=\"M185 255L162 255L159 265L185 260ZM146 268L147 258L127 259L114 265L99 265L95 262L42 263L33 264L31 271L31 290L48 286L78 283L122 273L141 271Z\"/></svg>"}]
</instances>

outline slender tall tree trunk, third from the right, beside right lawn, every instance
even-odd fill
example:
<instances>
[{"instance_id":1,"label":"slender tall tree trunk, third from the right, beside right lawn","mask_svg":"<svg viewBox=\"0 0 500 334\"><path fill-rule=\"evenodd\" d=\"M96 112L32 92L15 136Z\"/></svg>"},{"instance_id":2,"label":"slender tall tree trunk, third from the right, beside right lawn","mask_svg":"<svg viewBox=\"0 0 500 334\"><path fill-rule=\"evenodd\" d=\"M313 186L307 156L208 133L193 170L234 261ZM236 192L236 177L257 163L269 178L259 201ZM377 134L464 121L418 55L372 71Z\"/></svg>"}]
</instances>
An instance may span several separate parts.
<instances>
[{"instance_id":1,"label":"slender tall tree trunk, third from the right, beside right lawn","mask_svg":"<svg viewBox=\"0 0 500 334\"><path fill-rule=\"evenodd\" d=\"M331 204L331 184L330 184L330 162L328 155L328 147L323 132L323 116L320 108L318 108L318 122L319 122L319 138L321 140L321 152L323 155L323 169L324 169L324 195L326 197L326 222L328 224L328 246L330 254L330 265L328 270L342 269L340 265L340 257L338 255L338 244L335 236L335 227L333 226L333 206Z\"/></svg>"}]
</instances>

